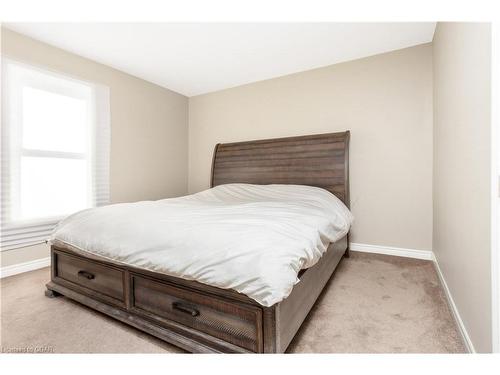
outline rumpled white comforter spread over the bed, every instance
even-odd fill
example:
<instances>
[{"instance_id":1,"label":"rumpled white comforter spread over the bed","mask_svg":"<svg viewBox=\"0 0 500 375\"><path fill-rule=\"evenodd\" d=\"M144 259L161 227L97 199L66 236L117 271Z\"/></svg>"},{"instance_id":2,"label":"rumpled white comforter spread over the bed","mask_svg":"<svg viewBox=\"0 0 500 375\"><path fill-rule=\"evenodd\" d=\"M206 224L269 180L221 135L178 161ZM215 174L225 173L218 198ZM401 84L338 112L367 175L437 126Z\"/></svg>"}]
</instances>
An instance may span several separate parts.
<instances>
[{"instance_id":1,"label":"rumpled white comforter spread over the bed","mask_svg":"<svg viewBox=\"0 0 500 375\"><path fill-rule=\"evenodd\" d=\"M52 239L84 252L219 288L263 306L285 299L353 217L333 194L299 185L217 186L113 204L63 220Z\"/></svg>"}]
</instances>

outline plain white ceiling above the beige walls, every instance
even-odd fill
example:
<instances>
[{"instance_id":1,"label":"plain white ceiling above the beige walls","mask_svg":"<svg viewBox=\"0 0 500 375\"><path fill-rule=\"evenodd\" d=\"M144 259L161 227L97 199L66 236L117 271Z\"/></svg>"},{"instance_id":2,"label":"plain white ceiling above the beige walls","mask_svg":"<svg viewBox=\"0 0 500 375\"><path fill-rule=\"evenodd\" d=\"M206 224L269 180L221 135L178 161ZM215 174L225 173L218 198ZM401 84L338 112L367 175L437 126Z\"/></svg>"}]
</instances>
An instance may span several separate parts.
<instances>
[{"instance_id":1,"label":"plain white ceiling above the beige walls","mask_svg":"<svg viewBox=\"0 0 500 375\"><path fill-rule=\"evenodd\" d=\"M432 40L435 23L8 23L186 96Z\"/></svg>"}]
</instances>

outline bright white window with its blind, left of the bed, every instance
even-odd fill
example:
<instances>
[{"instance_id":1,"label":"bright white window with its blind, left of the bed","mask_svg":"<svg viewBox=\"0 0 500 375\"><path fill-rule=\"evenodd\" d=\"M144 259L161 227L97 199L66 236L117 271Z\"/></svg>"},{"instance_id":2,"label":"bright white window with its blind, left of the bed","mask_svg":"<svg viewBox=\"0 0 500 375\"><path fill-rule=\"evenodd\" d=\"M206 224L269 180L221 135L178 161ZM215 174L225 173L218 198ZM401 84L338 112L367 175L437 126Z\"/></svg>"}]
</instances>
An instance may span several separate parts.
<instances>
[{"instance_id":1,"label":"bright white window with its blind, left of the bed","mask_svg":"<svg viewBox=\"0 0 500 375\"><path fill-rule=\"evenodd\" d=\"M109 200L109 90L2 60L1 248Z\"/></svg>"}]
</instances>

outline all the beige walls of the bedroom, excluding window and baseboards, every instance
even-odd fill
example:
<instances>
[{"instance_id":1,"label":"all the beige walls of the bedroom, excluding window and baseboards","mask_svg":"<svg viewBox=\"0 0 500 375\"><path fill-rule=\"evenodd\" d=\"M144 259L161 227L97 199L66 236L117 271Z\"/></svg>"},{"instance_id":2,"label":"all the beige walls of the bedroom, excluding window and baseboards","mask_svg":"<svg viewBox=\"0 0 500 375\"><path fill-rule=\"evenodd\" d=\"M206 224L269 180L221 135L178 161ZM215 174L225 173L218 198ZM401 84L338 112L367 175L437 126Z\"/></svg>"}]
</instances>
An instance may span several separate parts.
<instances>
[{"instance_id":1,"label":"all the beige walls of the bedroom, excluding window and baseboards","mask_svg":"<svg viewBox=\"0 0 500 375\"><path fill-rule=\"evenodd\" d=\"M189 192L207 188L218 142L351 130L352 241L433 249L491 350L488 25L439 23L433 45L190 98L189 134L182 95L5 29L2 54L111 88L113 202L184 194L188 168Z\"/></svg>"}]
</instances>

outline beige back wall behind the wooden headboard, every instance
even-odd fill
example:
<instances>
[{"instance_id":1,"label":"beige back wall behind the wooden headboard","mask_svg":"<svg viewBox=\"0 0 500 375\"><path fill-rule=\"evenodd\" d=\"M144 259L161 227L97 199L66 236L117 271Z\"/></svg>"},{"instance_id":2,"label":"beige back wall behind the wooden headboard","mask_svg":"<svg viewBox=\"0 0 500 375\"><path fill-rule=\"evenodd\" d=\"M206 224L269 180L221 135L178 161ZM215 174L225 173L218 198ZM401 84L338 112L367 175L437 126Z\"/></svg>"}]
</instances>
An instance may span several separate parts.
<instances>
[{"instance_id":1,"label":"beige back wall behind the wooden headboard","mask_svg":"<svg viewBox=\"0 0 500 375\"><path fill-rule=\"evenodd\" d=\"M432 46L189 99L189 191L209 186L214 145L351 130L352 241L432 246Z\"/></svg>"}]
</instances>

